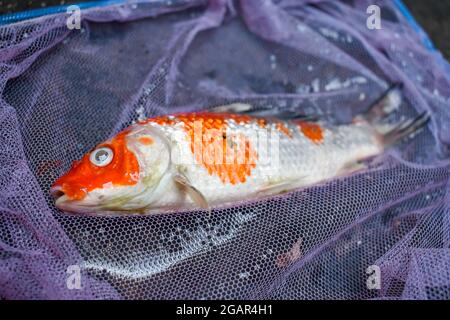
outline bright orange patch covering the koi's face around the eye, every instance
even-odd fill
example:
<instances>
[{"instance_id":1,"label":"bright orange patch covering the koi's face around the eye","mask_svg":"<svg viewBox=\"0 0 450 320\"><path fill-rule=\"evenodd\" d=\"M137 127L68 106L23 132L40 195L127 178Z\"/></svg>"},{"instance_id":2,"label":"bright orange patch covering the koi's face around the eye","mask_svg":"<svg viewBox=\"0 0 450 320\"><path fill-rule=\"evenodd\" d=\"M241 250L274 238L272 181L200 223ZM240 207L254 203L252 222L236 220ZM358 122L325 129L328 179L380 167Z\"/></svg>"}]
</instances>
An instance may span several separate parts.
<instances>
[{"instance_id":1,"label":"bright orange patch covering the koi's face around the eye","mask_svg":"<svg viewBox=\"0 0 450 320\"><path fill-rule=\"evenodd\" d=\"M127 130L122 131L110 143L98 146L113 150L111 163L98 167L91 163L90 153L87 153L80 161L75 161L69 172L56 180L53 187L61 186L69 199L81 200L89 191L102 188L105 184L135 185L139 178L139 163L133 152L127 148L127 134Z\"/></svg>"}]
</instances>

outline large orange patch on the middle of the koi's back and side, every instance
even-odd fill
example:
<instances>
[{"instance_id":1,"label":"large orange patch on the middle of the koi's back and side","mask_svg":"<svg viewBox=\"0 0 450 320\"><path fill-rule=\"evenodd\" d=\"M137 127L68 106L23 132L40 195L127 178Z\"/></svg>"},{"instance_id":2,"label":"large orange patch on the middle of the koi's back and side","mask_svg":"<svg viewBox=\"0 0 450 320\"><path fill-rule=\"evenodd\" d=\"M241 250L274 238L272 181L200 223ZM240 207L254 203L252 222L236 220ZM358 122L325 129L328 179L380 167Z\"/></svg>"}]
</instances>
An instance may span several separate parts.
<instances>
[{"instance_id":1,"label":"large orange patch on the middle of the koi's back and side","mask_svg":"<svg viewBox=\"0 0 450 320\"><path fill-rule=\"evenodd\" d=\"M255 120L248 115L199 112L162 116L148 122L160 125L183 123L196 162L223 183L237 184L244 183L251 175L256 167L257 154L245 136L227 136L227 122L243 124ZM257 123L265 125L265 120Z\"/></svg>"}]
</instances>

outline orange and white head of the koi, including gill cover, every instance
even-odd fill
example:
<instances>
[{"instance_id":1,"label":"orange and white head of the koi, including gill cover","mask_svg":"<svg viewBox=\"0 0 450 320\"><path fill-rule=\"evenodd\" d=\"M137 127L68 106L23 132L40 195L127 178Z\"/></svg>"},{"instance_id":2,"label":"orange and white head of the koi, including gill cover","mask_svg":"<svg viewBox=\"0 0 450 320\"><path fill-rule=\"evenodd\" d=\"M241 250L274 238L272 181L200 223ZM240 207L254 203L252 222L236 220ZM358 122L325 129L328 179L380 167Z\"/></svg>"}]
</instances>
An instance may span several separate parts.
<instances>
[{"instance_id":1,"label":"orange and white head of the koi, including gill cover","mask_svg":"<svg viewBox=\"0 0 450 320\"><path fill-rule=\"evenodd\" d=\"M142 210L170 164L170 148L155 128L134 125L100 143L55 181L55 206L72 213Z\"/></svg>"}]
</instances>

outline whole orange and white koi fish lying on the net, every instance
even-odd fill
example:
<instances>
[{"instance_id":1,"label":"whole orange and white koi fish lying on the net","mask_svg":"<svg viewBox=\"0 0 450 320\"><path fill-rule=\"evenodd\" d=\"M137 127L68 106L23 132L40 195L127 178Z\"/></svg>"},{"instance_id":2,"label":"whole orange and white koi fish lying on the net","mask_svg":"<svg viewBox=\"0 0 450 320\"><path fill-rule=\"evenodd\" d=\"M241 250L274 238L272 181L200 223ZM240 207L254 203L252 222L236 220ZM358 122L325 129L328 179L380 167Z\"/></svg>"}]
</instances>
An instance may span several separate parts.
<instances>
[{"instance_id":1,"label":"whole orange and white koi fish lying on the net","mask_svg":"<svg viewBox=\"0 0 450 320\"><path fill-rule=\"evenodd\" d=\"M392 86L343 125L242 103L149 118L75 161L50 192L63 211L126 214L210 210L311 186L363 169L425 126L426 113L386 124L400 92Z\"/></svg>"}]
</instances>

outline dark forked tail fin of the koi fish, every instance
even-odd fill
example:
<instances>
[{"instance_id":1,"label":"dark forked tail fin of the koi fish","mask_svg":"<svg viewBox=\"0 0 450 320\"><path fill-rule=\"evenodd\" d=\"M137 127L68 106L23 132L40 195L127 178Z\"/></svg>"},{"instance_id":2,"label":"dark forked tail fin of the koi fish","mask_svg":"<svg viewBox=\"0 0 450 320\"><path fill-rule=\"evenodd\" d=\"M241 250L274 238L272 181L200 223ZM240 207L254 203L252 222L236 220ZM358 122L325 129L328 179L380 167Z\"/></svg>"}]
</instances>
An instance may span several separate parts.
<instances>
[{"instance_id":1,"label":"dark forked tail fin of the koi fish","mask_svg":"<svg viewBox=\"0 0 450 320\"><path fill-rule=\"evenodd\" d=\"M380 139L386 148L420 131L430 120L430 115L424 112L414 119L404 120L396 125L383 123L388 115L400 107L402 103L402 88L403 85L401 83L390 86L364 115L364 118L380 134Z\"/></svg>"}]
</instances>

